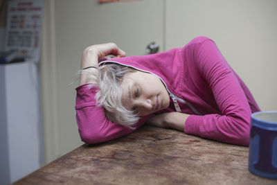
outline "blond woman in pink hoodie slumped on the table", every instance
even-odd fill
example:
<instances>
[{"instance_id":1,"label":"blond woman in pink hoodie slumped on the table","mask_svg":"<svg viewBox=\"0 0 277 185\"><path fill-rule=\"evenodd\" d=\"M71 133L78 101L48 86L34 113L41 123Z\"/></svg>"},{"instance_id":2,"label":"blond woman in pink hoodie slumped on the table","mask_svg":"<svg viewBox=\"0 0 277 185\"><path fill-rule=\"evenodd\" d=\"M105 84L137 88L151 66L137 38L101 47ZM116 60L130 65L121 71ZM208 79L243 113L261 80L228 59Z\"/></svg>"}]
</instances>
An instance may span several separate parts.
<instances>
[{"instance_id":1,"label":"blond woman in pink hoodie slumped on the table","mask_svg":"<svg viewBox=\"0 0 277 185\"><path fill-rule=\"evenodd\" d=\"M85 143L116 139L148 123L249 144L250 116L260 109L207 37L196 37L182 48L132 57L112 43L89 46L81 69L75 109Z\"/></svg>"}]
</instances>

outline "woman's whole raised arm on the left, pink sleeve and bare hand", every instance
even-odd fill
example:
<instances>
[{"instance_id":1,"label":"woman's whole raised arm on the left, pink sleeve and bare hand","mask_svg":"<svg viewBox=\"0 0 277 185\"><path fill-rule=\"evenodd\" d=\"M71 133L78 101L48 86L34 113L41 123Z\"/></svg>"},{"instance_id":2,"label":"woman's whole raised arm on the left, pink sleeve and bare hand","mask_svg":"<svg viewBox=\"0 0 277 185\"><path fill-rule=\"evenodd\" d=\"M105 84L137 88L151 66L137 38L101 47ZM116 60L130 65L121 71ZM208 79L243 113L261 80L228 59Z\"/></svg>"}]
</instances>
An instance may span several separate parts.
<instances>
[{"instance_id":1,"label":"woman's whole raised arm on the left, pink sleeve and bare hand","mask_svg":"<svg viewBox=\"0 0 277 185\"><path fill-rule=\"evenodd\" d=\"M87 47L82 53L81 69L98 68L98 60L109 54L117 57L125 56L125 52L113 43ZM128 127L109 121L105 116L104 108L97 105L95 96L99 89L97 86L91 87L89 84L97 83L98 69L89 68L87 70L91 73L82 73L80 86L76 88L76 121L82 141L84 143L101 143L132 132L133 130Z\"/></svg>"}]
</instances>

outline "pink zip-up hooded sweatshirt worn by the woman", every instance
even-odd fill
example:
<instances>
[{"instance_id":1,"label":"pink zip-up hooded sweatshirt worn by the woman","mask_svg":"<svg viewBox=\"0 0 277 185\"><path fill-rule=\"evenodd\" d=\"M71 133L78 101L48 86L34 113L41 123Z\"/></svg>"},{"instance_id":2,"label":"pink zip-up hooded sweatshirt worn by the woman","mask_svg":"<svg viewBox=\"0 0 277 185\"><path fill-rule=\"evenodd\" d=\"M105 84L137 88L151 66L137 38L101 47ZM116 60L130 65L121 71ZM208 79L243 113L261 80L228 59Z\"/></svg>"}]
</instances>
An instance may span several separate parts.
<instances>
[{"instance_id":1,"label":"pink zip-up hooded sweatshirt worn by the woman","mask_svg":"<svg viewBox=\"0 0 277 185\"><path fill-rule=\"evenodd\" d=\"M112 58L117 63L158 76L170 95L170 106L160 112L188 116L184 132L204 138L249 145L251 113L260 111L247 86L226 62L215 42L196 37L186 46L163 53ZM96 106L98 87L76 88L76 119L82 141L100 143L134 130L112 123ZM136 124L139 128L152 115Z\"/></svg>"}]
</instances>

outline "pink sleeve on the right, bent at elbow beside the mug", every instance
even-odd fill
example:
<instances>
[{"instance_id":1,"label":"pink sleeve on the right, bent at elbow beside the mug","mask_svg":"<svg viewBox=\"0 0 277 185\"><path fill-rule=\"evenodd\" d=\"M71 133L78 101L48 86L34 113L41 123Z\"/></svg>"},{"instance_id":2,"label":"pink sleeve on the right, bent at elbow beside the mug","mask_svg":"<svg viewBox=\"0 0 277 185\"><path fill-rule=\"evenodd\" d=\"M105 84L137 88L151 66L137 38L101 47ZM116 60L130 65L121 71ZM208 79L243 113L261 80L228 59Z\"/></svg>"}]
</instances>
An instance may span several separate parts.
<instances>
[{"instance_id":1,"label":"pink sleeve on the right, bent at elbow beside the mug","mask_svg":"<svg viewBox=\"0 0 277 185\"><path fill-rule=\"evenodd\" d=\"M194 46L195 65L213 91L222 114L191 115L184 131L208 139L249 145L251 109L235 73L211 39Z\"/></svg>"}]
</instances>

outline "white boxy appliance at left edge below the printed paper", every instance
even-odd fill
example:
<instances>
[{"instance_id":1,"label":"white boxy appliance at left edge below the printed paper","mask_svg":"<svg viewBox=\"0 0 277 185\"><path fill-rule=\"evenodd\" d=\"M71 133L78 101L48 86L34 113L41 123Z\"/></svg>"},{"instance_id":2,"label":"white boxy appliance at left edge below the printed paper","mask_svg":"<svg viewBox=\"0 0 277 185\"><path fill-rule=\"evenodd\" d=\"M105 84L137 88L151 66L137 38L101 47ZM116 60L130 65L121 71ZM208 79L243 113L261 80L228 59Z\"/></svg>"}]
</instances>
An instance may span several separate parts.
<instances>
[{"instance_id":1,"label":"white boxy appliance at left edge below the printed paper","mask_svg":"<svg viewBox=\"0 0 277 185\"><path fill-rule=\"evenodd\" d=\"M44 162L37 64L0 64L0 184L10 184Z\"/></svg>"}]
</instances>

